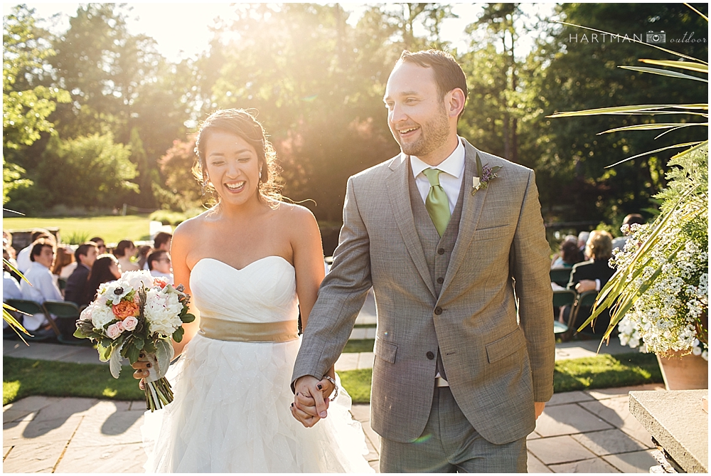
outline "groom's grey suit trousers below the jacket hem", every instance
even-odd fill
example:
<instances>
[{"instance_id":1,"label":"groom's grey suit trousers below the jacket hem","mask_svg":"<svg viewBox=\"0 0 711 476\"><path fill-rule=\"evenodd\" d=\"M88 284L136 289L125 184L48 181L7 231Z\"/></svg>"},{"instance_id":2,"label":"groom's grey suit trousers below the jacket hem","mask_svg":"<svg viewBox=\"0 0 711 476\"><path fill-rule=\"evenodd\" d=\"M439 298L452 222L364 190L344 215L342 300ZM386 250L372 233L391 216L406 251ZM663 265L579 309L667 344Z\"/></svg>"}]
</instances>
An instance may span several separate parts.
<instances>
[{"instance_id":1,"label":"groom's grey suit trousers below the jacket hem","mask_svg":"<svg viewBox=\"0 0 711 476\"><path fill-rule=\"evenodd\" d=\"M434 388L422 435L412 443L380 437L380 472L527 472L526 438L485 440L466 419L449 387Z\"/></svg>"}]
</instances>

